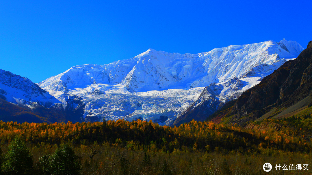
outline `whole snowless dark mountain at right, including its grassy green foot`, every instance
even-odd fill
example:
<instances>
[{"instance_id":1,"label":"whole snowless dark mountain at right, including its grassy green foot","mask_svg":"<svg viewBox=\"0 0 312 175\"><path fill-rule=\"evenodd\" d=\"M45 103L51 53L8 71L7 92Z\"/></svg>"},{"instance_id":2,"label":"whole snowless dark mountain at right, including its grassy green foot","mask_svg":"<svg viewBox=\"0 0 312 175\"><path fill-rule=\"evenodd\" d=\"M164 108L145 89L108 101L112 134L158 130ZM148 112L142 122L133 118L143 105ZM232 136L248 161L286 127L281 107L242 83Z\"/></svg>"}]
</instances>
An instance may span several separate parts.
<instances>
[{"instance_id":1,"label":"whole snowless dark mountain at right, including its grassy green foot","mask_svg":"<svg viewBox=\"0 0 312 175\"><path fill-rule=\"evenodd\" d=\"M258 85L227 103L222 110L210 116L209 120L244 126L250 121L263 121L266 118L285 119L308 113L312 104L311 68L312 41L296 59L286 62L263 78ZM201 115L200 112L197 112L197 115ZM226 120L222 120L225 118Z\"/></svg>"}]
</instances>

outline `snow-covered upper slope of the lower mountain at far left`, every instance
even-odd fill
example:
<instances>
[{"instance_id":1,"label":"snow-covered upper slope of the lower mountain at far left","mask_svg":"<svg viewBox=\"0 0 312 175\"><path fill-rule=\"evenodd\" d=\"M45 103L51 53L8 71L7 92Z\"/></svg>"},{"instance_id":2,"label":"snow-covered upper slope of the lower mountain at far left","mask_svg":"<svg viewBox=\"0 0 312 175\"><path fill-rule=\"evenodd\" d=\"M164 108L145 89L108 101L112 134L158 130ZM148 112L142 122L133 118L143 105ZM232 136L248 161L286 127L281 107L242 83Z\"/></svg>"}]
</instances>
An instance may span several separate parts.
<instances>
[{"instance_id":1,"label":"snow-covered upper slope of the lower mountain at far left","mask_svg":"<svg viewBox=\"0 0 312 175\"><path fill-rule=\"evenodd\" d=\"M23 106L50 107L61 103L28 78L0 69L0 98Z\"/></svg>"}]
</instances>

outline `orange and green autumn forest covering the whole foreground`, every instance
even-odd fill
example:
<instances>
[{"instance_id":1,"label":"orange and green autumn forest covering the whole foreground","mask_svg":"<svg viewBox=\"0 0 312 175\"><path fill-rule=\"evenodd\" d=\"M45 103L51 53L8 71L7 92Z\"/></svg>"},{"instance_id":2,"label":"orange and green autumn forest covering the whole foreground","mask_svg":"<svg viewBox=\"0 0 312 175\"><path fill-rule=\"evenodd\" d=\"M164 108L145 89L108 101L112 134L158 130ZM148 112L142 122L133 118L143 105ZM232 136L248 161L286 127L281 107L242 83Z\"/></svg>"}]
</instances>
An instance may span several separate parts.
<instances>
[{"instance_id":1,"label":"orange and green autumn forest covering the whole foreground","mask_svg":"<svg viewBox=\"0 0 312 175\"><path fill-rule=\"evenodd\" d=\"M2 174L266 174L262 166L311 165L310 114L246 127L191 121L0 121ZM312 168L312 167L311 167ZM310 174L310 171L300 171ZM297 174L271 171L270 174Z\"/></svg>"}]
</instances>

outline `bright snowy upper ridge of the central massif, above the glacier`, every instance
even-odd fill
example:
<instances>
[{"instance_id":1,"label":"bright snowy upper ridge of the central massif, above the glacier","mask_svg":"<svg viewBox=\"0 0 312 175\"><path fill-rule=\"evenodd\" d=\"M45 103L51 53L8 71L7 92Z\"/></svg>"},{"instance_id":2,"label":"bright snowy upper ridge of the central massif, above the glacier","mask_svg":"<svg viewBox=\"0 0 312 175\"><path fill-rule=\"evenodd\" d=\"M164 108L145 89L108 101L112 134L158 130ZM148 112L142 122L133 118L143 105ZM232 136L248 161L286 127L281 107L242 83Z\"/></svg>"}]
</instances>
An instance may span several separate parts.
<instances>
[{"instance_id":1,"label":"bright snowy upper ridge of the central massif, above the glacier","mask_svg":"<svg viewBox=\"0 0 312 175\"><path fill-rule=\"evenodd\" d=\"M148 49L131 59L110 64L74 66L39 85L47 90L63 92L96 83L119 84L129 92L190 89L241 78L252 68L264 64L273 65L277 69L285 59L295 58L302 50L297 42L285 39L280 42L230 45L199 54Z\"/></svg>"}]
</instances>

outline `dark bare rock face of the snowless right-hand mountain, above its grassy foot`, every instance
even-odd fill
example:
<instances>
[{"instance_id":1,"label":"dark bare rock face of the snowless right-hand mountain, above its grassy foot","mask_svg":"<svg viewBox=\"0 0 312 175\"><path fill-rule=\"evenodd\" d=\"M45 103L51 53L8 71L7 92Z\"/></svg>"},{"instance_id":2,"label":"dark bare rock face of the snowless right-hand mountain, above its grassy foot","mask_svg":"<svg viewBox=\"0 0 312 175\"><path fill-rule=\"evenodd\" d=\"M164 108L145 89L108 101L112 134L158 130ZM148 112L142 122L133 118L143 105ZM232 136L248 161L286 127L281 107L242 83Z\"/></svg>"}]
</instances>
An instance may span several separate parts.
<instances>
[{"instance_id":1,"label":"dark bare rock face of the snowless right-hand mountain, above its grassy foot","mask_svg":"<svg viewBox=\"0 0 312 175\"><path fill-rule=\"evenodd\" d=\"M266 112L289 107L312 92L312 47L311 41L295 60L290 60L262 79L225 110L233 115L231 122L244 124ZM220 115L224 115L219 113ZM213 119L212 119L213 120Z\"/></svg>"}]
</instances>

